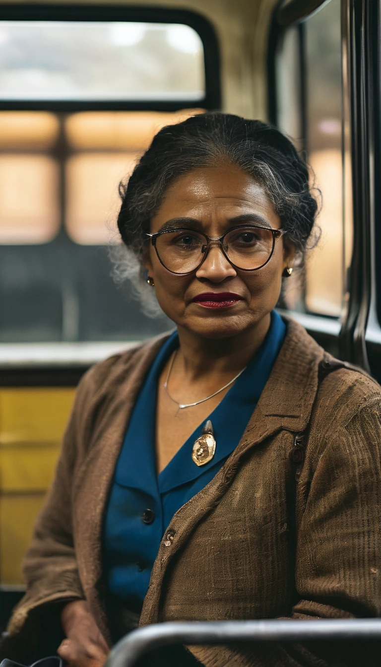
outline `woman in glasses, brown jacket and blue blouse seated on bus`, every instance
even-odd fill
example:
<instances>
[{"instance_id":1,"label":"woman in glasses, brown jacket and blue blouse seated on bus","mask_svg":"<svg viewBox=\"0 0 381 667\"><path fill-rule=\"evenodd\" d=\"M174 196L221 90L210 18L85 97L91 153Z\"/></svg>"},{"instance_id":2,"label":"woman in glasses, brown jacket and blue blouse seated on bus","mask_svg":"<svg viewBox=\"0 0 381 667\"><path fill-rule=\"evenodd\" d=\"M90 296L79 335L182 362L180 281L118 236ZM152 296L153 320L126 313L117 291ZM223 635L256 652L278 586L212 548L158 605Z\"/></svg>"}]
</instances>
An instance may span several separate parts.
<instances>
[{"instance_id":1,"label":"woman in glasses, brown jacket and blue blouse seated on bus","mask_svg":"<svg viewBox=\"0 0 381 667\"><path fill-rule=\"evenodd\" d=\"M79 384L3 654L99 667L137 624L377 616L380 387L274 310L314 225L306 164L264 123L198 115L159 131L122 195L176 329ZM156 660L378 664L352 643Z\"/></svg>"}]
</instances>

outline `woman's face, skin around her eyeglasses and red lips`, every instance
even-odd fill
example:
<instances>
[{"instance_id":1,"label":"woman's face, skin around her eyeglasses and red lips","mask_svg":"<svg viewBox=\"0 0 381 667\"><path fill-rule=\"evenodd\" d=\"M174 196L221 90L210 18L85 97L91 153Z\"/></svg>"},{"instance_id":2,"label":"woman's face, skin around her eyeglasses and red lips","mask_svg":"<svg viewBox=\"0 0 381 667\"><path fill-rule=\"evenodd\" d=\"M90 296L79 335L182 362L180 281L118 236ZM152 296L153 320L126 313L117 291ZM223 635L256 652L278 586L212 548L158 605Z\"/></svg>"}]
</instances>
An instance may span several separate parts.
<instances>
[{"instance_id":1,"label":"woman's face, skin around her eyeglasses and red lips","mask_svg":"<svg viewBox=\"0 0 381 667\"><path fill-rule=\"evenodd\" d=\"M233 165L200 167L169 185L163 202L151 219L151 233L175 219L173 227L192 227L210 237L220 237L237 226L240 216L252 215L252 224L280 228L280 217L262 185ZM181 223L181 218L186 218ZM190 221L192 219L192 222ZM245 219L246 220L246 219ZM245 221L246 224L246 221ZM283 238L276 241L268 263L256 271L240 271L212 245L202 265L189 275L174 275L160 263L150 246L146 267L155 282L157 301L178 327L203 338L228 338L255 329L275 307L282 271L294 258ZM210 293L233 293L232 303L208 305ZM202 301L202 299L207 299Z\"/></svg>"}]
</instances>

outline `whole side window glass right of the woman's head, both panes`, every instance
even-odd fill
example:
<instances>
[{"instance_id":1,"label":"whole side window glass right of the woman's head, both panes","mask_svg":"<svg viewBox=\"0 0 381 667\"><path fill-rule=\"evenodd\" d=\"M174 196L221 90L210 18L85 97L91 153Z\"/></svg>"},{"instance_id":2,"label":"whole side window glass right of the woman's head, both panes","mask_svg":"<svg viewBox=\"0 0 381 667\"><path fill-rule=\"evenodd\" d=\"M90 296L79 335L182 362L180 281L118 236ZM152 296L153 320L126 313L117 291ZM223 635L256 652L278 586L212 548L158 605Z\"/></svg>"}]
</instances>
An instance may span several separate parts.
<instances>
[{"instance_id":1,"label":"whole side window glass right of the woman's head, both panes","mask_svg":"<svg viewBox=\"0 0 381 667\"><path fill-rule=\"evenodd\" d=\"M276 57L277 121L304 151L321 206L321 238L302 280L287 285L290 309L340 317L350 232L344 233L340 0L330 0L280 37Z\"/></svg>"}]
</instances>

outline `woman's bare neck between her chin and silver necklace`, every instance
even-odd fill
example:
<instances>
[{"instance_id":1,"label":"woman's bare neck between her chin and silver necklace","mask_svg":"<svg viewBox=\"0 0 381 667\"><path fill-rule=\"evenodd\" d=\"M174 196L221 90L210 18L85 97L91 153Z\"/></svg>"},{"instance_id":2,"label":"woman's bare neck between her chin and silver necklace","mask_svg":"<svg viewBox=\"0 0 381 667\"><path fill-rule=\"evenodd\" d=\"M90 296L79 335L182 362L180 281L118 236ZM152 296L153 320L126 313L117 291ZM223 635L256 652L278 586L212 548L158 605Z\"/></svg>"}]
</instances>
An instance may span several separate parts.
<instances>
[{"instance_id":1,"label":"woman's bare neck between her chin and silver necklace","mask_svg":"<svg viewBox=\"0 0 381 667\"><path fill-rule=\"evenodd\" d=\"M247 366L264 342L270 327L270 313L256 327L229 338L202 338L193 331L177 327L179 351L176 366L190 381L206 374L238 373Z\"/></svg>"}]
</instances>

